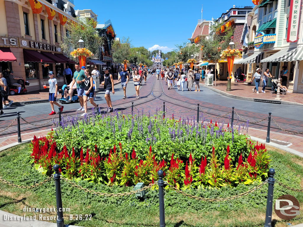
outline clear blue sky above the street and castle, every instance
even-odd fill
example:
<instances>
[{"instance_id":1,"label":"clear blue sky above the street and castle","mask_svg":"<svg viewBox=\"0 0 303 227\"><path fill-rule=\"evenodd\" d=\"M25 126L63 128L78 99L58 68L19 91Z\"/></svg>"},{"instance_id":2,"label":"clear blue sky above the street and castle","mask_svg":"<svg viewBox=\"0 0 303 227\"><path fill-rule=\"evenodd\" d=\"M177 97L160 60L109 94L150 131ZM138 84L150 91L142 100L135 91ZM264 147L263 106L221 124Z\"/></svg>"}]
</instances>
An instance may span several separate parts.
<instances>
[{"instance_id":1,"label":"clear blue sky above the street and castle","mask_svg":"<svg viewBox=\"0 0 303 227\"><path fill-rule=\"evenodd\" d=\"M197 3L199 2L199 3ZM129 37L135 47L167 52L191 38L198 19L218 18L223 12L236 6L253 6L251 0L234 1L100 1L74 0L76 9L92 9L98 15L98 23L110 19L117 37ZM156 45L156 46L155 46Z\"/></svg>"}]
</instances>

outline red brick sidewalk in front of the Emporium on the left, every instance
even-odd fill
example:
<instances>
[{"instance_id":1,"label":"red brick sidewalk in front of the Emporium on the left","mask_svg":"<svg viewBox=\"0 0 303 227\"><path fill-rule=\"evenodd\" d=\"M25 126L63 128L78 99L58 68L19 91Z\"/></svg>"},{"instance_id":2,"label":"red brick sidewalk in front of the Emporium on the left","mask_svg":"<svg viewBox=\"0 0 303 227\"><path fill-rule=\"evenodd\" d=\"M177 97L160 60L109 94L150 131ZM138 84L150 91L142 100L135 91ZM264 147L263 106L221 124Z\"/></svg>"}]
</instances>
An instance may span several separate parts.
<instances>
[{"instance_id":1,"label":"red brick sidewalk in front of the Emporium on the left","mask_svg":"<svg viewBox=\"0 0 303 227\"><path fill-rule=\"evenodd\" d=\"M114 80L114 85L119 84L118 80ZM61 86L60 86L61 87ZM96 92L103 90L103 85L100 83L100 87ZM61 98L61 94L59 96ZM30 91L27 94L16 94L8 96L9 100L13 100L12 106L30 104L31 102L44 102L48 101L48 89Z\"/></svg>"}]
</instances>

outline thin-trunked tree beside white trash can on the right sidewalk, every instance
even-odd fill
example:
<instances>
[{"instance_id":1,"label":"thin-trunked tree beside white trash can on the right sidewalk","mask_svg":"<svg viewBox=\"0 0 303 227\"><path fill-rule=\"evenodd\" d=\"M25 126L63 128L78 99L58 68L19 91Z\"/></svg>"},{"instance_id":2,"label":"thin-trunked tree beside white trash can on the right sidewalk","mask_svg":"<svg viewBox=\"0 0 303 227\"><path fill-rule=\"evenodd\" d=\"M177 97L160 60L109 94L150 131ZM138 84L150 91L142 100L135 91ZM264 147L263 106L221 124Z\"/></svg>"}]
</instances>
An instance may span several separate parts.
<instances>
[{"instance_id":1,"label":"thin-trunked tree beside white trash can on the right sidewalk","mask_svg":"<svg viewBox=\"0 0 303 227\"><path fill-rule=\"evenodd\" d=\"M211 25L209 28L211 37L209 39L202 39L199 44L202 47L202 58L207 61L215 63L215 71L217 63L220 60L221 52L228 48L231 36L234 33L233 27L226 27L224 33L220 33L220 28L224 24L223 21ZM216 77L215 77L216 86Z\"/></svg>"}]
</instances>

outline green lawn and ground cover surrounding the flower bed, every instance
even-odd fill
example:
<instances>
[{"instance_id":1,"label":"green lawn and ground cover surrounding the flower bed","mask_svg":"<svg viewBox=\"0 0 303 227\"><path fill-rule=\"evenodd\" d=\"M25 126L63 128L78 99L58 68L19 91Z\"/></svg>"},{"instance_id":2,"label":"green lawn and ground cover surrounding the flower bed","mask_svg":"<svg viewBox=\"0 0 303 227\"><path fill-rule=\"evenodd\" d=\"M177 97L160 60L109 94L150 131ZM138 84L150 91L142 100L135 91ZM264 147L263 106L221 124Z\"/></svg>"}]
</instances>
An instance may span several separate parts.
<instances>
[{"instance_id":1,"label":"green lawn and ground cover surrounding the flower bed","mask_svg":"<svg viewBox=\"0 0 303 227\"><path fill-rule=\"evenodd\" d=\"M275 178L284 184L303 188L303 158L267 147L271 155L271 167L276 170ZM43 181L45 176L38 173L29 164L29 146L21 144L0 153L0 176L19 185L32 185ZM78 183L82 187L99 192L126 192L133 187L95 185L86 181ZM191 189L188 193L208 198L224 198L240 194L254 186L239 185L236 188ZM158 191L148 190L142 202L134 195L124 197L102 197L73 188L61 181L63 207L70 208L63 212L65 224L80 226L159 226ZM23 212L30 208L51 208L56 206L55 183L47 182L34 189L18 189L0 183L0 209L17 215L37 217L40 213ZM278 184L274 187L274 198L284 194L295 196L303 206L303 192L293 192ZM172 190L165 190L165 222L167 227L176 226L264 226L267 185L256 192L238 199L224 202L196 201ZM274 200L275 201L275 200ZM56 212L41 213L43 216L55 216ZM92 215L92 220L69 220L76 215ZM273 212L275 227L303 223L302 213L290 221L281 220ZM55 222L55 221L53 221Z\"/></svg>"}]
</instances>

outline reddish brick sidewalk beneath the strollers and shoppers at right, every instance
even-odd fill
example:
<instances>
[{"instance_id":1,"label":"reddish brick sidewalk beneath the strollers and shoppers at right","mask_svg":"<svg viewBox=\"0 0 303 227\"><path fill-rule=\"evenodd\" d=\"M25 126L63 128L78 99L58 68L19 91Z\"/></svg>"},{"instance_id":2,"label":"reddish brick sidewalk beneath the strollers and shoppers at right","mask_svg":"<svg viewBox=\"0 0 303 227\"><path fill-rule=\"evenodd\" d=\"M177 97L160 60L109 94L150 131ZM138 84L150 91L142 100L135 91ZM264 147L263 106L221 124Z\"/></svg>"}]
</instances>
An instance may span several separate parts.
<instances>
[{"instance_id":1,"label":"reddish brick sidewalk beneath the strollers and shoppers at right","mask_svg":"<svg viewBox=\"0 0 303 227\"><path fill-rule=\"evenodd\" d=\"M200 82L201 84L205 84L205 82ZM214 82L215 84L215 82ZM217 81L216 86L208 86L223 92L226 92L227 81ZM256 92L252 92L252 88L254 85L244 84L243 82L235 83L235 81L231 81L231 91L226 92L231 95L247 97L247 98L256 98L256 99L267 99L267 100L275 100L276 94L270 94L270 87L266 87L266 93L262 93L262 87L259 87L259 94ZM280 94L280 98L283 101L303 104L303 93L286 93L285 95Z\"/></svg>"}]
</instances>

